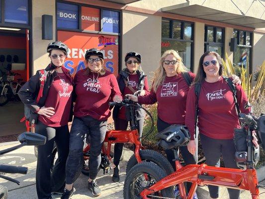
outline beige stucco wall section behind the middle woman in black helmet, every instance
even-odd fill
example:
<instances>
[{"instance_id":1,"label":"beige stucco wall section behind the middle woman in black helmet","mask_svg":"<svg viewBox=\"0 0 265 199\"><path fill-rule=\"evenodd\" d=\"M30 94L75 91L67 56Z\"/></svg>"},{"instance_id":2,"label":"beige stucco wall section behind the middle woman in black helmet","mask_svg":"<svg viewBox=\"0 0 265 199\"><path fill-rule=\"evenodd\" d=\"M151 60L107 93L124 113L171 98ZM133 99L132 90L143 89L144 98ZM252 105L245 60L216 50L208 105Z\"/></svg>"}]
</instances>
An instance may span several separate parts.
<instances>
[{"instance_id":1,"label":"beige stucco wall section behind the middle woman in black helmet","mask_svg":"<svg viewBox=\"0 0 265 199\"><path fill-rule=\"evenodd\" d=\"M122 68L126 52L136 51L142 56L142 68L150 80L150 72L158 67L161 57L162 19L126 10L122 15Z\"/></svg>"}]
</instances>

